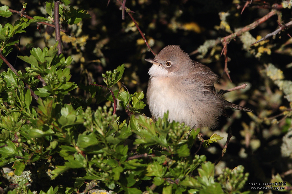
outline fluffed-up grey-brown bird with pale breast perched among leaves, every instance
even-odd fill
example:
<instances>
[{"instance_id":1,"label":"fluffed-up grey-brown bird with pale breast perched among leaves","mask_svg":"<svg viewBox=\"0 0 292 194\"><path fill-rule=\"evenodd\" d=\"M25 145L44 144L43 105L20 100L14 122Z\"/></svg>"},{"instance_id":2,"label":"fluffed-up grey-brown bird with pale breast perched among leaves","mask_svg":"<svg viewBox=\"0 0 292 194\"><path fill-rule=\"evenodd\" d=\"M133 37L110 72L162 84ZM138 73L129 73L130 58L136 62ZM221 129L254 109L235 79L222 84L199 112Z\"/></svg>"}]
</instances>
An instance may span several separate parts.
<instances>
[{"instance_id":1,"label":"fluffed-up grey-brown bird with pale breast perched among leaves","mask_svg":"<svg viewBox=\"0 0 292 194\"><path fill-rule=\"evenodd\" d=\"M219 77L209 67L197 61L178 45L168 45L154 58L147 88L147 104L152 117L185 123L192 128L215 128L221 115L229 117L225 109L234 108L253 112L233 104L217 92L214 83Z\"/></svg>"}]
</instances>

